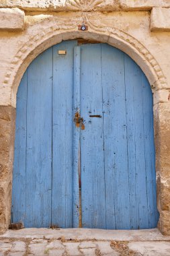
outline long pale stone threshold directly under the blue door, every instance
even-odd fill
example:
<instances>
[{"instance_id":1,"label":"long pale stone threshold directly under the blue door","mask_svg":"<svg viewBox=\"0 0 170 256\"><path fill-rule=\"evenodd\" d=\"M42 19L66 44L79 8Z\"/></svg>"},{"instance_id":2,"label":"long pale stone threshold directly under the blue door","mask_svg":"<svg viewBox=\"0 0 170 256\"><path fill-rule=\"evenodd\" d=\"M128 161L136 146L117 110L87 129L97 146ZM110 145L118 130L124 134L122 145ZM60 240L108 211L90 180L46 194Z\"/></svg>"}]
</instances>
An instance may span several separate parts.
<instances>
[{"instance_id":1,"label":"long pale stone threshold directly under the blue door","mask_svg":"<svg viewBox=\"0 0 170 256\"><path fill-rule=\"evenodd\" d=\"M49 238L59 240L99 240L99 241L169 241L170 236L163 236L158 228L142 230L103 230L92 228L23 228L7 230L0 238Z\"/></svg>"}]
</instances>

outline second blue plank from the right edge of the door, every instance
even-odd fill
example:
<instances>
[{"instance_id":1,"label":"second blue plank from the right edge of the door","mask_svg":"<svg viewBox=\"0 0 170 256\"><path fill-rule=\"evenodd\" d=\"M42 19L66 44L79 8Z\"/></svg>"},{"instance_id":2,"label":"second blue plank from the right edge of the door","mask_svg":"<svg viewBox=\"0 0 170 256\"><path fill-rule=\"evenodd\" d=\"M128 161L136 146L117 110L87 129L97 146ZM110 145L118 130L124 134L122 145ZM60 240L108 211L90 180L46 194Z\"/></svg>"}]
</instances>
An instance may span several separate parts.
<instances>
[{"instance_id":1,"label":"second blue plank from the right edge of the door","mask_svg":"<svg viewBox=\"0 0 170 256\"><path fill-rule=\"evenodd\" d=\"M124 55L131 229L148 228L142 71Z\"/></svg>"}]
</instances>

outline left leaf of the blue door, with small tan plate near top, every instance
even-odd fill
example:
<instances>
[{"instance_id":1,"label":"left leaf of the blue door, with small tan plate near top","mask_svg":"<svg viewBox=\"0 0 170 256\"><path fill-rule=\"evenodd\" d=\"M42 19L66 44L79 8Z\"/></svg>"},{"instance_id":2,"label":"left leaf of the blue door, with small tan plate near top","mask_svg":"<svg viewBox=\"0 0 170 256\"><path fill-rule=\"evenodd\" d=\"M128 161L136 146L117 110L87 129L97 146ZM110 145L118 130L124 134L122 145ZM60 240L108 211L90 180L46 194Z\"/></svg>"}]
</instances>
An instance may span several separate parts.
<instances>
[{"instance_id":1,"label":"left leaf of the blue door, with small tan plate near top","mask_svg":"<svg viewBox=\"0 0 170 256\"><path fill-rule=\"evenodd\" d=\"M11 220L25 227L73 226L76 44L62 42L39 55L17 92Z\"/></svg>"}]
</instances>

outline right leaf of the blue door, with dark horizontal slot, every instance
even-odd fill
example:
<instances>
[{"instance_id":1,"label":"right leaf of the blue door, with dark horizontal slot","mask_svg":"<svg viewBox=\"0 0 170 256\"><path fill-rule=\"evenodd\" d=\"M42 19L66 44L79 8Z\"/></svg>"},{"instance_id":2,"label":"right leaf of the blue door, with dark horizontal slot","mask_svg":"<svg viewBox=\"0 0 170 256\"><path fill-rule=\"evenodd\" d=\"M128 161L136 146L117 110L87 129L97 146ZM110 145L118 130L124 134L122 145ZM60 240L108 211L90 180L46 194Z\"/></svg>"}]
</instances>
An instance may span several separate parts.
<instances>
[{"instance_id":1,"label":"right leaf of the blue door, with dark horizontal slot","mask_svg":"<svg viewBox=\"0 0 170 256\"><path fill-rule=\"evenodd\" d=\"M153 97L140 67L108 44L81 46L85 228L157 226Z\"/></svg>"}]
</instances>

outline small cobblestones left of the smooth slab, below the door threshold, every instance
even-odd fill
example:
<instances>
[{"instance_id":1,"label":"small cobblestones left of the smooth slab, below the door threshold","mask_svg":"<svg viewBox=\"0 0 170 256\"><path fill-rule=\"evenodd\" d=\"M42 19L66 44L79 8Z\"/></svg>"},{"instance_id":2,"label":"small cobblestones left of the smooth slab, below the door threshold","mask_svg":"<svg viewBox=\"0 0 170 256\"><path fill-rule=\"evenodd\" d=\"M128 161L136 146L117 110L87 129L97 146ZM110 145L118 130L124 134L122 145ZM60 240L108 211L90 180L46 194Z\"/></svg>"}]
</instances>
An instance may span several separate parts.
<instances>
[{"instance_id":1,"label":"small cobblestones left of the smooth slab, below the door threshold","mask_svg":"<svg viewBox=\"0 0 170 256\"><path fill-rule=\"evenodd\" d=\"M0 242L0 256L25 256L25 255L120 255L112 248L110 241L66 241L52 239L23 239L13 241L4 239Z\"/></svg>"}]
</instances>

